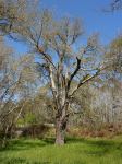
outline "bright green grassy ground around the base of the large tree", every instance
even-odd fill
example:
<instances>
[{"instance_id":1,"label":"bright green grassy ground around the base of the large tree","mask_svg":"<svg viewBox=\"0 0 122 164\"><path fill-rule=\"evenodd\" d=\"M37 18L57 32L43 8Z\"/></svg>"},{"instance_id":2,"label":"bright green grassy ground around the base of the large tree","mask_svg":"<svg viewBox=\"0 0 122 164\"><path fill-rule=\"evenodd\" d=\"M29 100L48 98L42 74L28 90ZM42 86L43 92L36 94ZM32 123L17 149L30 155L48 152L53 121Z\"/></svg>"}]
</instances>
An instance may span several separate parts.
<instances>
[{"instance_id":1,"label":"bright green grassy ground around the base of the large tree","mask_svg":"<svg viewBox=\"0 0 122 164\"><path fill-rule=\"evenodd\" d=\"M64 147L52 139L13 140L0 150L0 164L122 164L122 137L69 139Z\"/></svg>"}]
</instances>

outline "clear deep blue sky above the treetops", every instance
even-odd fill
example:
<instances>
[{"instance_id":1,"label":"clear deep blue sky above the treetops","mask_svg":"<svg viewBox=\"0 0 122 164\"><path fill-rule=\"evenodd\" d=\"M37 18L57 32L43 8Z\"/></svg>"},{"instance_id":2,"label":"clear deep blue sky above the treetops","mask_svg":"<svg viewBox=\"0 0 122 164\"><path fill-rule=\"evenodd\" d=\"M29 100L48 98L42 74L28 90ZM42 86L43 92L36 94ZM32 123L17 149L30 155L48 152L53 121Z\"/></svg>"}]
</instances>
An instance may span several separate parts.
<instances>
[{"instance_id":1,"label":"clear deep blue sky above the treetops","mask_svg":"<svg viewBox=\"0 0 122 164\"><path fill-rule=\"evenodd\" d=\"M108 44L122 32L122 11L106 13L102 11L111 0L41 0L42 8L48 8L59 17L80 17L85 34L99 33L102 44ZM19 43L12 43L22 52L26 49Z\"/></svg>"}]
</instances>

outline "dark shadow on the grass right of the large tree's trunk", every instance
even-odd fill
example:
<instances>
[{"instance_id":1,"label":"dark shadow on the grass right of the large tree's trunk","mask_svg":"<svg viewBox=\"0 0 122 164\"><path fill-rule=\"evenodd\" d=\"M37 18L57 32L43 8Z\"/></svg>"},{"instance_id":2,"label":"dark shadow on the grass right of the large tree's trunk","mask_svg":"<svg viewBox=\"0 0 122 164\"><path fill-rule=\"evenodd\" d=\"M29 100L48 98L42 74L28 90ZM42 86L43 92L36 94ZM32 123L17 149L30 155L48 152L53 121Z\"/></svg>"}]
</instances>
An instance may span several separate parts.
<instances>
[{"instance_id":1,"label":"dark shadow on the grass right of the large tree's trunk","mask_svg":"<svg viewBox=\"0 0 122 164\"><path fill-rule=\"evenodd\" d=\"M108 153L113 153L113 151L122 151L122 141L114 140L87 140L81 138L70 138L68 139L68 144L80 143L76 149L76 153L84 153L87 155L103 156ZM82 143L82 145L81 145ZM84 147L85 145L85 149Z\"/></svg>"}]
</instances>

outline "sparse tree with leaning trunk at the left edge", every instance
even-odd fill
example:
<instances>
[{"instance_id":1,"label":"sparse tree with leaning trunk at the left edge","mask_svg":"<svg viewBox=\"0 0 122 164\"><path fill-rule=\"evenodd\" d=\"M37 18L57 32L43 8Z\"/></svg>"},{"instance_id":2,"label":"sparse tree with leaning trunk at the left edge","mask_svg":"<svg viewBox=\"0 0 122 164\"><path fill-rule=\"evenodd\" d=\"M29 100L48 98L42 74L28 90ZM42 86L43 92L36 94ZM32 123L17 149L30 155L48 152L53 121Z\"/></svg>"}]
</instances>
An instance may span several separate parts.
<instances>
[{"instance_id":1,"label":"sparse tree with leaning trunk at the left edge","mask_svg":"<svg viewBox=\"0 0 122 164\"><path fill-rule=\"evenodd\" d=\"M7 136L11 136L12 128L24 110L26 99L35 94L38 73L32 56L15 58L3 37L0 38L0 136L4 145ZM23 105L19 107L22 99Z\"/></svg>"}]
</instances>

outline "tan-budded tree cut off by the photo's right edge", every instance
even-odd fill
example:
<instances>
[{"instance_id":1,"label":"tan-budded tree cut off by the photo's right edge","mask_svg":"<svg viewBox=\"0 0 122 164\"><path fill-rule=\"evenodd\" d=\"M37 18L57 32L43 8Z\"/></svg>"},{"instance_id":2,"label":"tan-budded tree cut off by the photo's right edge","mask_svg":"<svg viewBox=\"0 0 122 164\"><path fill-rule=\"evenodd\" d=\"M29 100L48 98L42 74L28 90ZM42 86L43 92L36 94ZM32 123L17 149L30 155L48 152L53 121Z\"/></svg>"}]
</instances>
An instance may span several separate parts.
<instances>
[{"instance_id":1,"label":"tan-budded tree cut off by the photo's right edge","mask_svg":"<svg viewBox=\"0 0 122 164\"><path fill-rule=\"evenodd\" d=\"M110 44L109 50L106 54L106 60L111 62L111 67L107 70L107 79L112 95L112 112L118 113L120 104L120 92L122 91L122 36L119 35ZM118 90L119 89L119 90Z\"/></svg>"}]
</instances>

